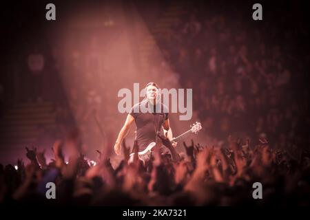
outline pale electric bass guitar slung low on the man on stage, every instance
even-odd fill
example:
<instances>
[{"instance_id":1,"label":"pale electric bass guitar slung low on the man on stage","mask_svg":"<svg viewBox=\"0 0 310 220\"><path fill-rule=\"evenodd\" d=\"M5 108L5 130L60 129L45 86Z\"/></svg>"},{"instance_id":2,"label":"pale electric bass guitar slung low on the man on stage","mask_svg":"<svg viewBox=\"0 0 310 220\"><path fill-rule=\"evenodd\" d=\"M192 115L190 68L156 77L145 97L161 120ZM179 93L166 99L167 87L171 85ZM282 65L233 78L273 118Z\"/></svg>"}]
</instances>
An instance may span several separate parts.
<instances>
[{"instance_id":1,"label":"pale electric bass guitar slung low on the man on stage","mask_svg":"<svg viewBox=\"0 0 310 220\"><path fill-rule=\"evenodd\" d=\"M187 137L187 135L189 135L191 133L197 134L198 131L200 131L201 129L202 129L202 127L201 127L200 122L196 122L195 124L191 125L191 129L189 129L188 131L185 131L181 135L178 135L178 137L174 137L174 139L170 143L179 142L180 140L182 140L184 137ZM156 143L152 142L143 151L138 152L138 159L141 159L143 161L143 163L145 163L147 160L149 160L151 157L152 148L154 148L155 145L156 145ZM161 148L163 148L163 147L165 147L165 146L161 146ZM172 157L174 157L174 155L177 155L174 148L169 148L169 150L170 150L170 153L172 153ZM134 162L134 153L130 154L130 159L128 160L128 163L132 163L132 162Z\"/></svg>"}]
</instances>

